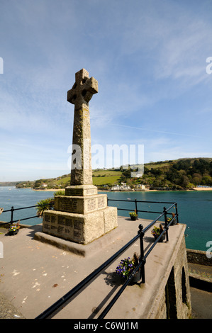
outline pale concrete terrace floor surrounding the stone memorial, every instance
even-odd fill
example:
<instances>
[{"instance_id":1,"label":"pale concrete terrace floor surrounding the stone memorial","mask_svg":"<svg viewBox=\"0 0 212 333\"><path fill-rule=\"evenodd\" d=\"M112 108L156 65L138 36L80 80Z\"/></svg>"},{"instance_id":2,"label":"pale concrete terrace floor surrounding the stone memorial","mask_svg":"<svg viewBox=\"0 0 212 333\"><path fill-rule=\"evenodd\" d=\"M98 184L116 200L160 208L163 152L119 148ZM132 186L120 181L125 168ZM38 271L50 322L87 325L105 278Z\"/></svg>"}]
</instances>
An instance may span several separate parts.
<instances>
[{"instance_id":1,"label":"pale concrete terrace floor surrounding the stone memorial","mask_svg":"<svg viewBox=\"0 0 212 333\"><path fill-rule=\"evenodd\" d=\"M35 240L35 233L42 231L40 225L23 228L15 236L1 234L4 258L0 259L0 293L10 300L23 317L33 319L135 237L140 223L145 227L149 222L119 217L118 228L111 231L105 240L107 235L91 243L91 251L88 248L84 256ZM158 243L147 258L146 283L128 286L107 318L146 318L154 312L157 296L164 288L169 266L174 262L173 250L184 237L184 228L182 224L169 227L169 242ZM144 238L145 252L153 242L149 230ZM139 251L138 241L54 318L99 317L122 286L123 282L114 273L116 266L125 256L133 256L134 252Z\"/></svg>"}]
</instances>

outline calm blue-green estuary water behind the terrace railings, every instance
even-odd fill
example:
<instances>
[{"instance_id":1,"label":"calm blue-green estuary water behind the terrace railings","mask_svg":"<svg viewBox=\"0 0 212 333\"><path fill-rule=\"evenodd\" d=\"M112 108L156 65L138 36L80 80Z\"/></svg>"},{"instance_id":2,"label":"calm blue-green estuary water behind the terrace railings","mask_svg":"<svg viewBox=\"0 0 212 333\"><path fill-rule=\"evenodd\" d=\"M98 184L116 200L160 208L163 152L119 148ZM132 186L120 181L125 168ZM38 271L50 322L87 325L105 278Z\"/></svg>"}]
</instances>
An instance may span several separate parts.
<instances>
[{"instance_id":1,"label":"calm blue-green estuary water behind the terrace railings","mask_svg":"<svg viewBox=\"0 0 212 333\"><path fill-rule=\"evenodd\" d=\"M138 213L138 218L155 220L163 208L169 208L177 203L179 223L186 224L186 247L207 251L209 242L212 242L212 191L147 191L147 192L101 192L108 196L108 205L118 208L118 215L129 216L129 211L135 210L135 199L143 201L138 203L138 210L147 210L155 213ZM33 191L30 188L15 188L0 186L0 207L4 210L23 208L36 205L45 198L53 198L54 191ZM111 200L115 201L111 201ZM152 203L156 201L157 203ZM173 206L169 213L175 213ZM123 209L123 210L120 210ZM125 210L127 209L127 210ZM13 220L35 216L35 208L16 210ZM1 221L9 222L11 213L2 213ZM32 218L22 221L26 225L36 225L42 219ZM208 244L207 244L208 243Z\"/></svg>"}]
</instances>

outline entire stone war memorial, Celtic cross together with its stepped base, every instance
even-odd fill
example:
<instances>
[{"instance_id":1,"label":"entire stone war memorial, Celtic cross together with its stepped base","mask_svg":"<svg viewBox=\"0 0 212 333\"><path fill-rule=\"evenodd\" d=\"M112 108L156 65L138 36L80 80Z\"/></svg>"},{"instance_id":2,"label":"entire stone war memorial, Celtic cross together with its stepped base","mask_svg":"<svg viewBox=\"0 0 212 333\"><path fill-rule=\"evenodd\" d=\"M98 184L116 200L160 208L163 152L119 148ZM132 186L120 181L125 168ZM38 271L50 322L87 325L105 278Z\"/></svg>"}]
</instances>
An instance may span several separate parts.
<instances>
[{"instance_id":1,"label":"entire stone war memorial, Celtic cross together with its stepped base","mask_svg":"<svg viewBox=\"0 0 212 333\"><path fill-rule=\"evenodd\" d=\"M43 215L43 232L89 244L118 226L117 208L107 206L106 194L92 184L89 101L98 92L98 82L82 69L67 92L74 104L72 170L65 196L55 196L55 209Z\"/></svg>"}]
</instances>

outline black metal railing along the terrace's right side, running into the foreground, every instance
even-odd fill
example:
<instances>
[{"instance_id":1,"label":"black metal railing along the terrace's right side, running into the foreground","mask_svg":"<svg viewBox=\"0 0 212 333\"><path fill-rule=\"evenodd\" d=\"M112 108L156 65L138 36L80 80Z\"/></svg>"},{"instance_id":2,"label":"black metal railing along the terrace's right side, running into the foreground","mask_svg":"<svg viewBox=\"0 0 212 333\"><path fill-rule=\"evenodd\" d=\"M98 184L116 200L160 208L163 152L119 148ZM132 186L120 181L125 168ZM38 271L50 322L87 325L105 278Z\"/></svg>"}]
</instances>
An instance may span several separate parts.
<instances>
[{"instance_id":1,"label":"black metal railing along the terrace's right side, running into the foreground","mask_svg":"<svg viewBox=\"0 0 212 333\"><path fill-rule=\"evenodd\" d=\"M111 200L111 199L108 199L108 200ZM142 210L138 210L137 203L139 203L139 202L143 202L143 201L136 201L136 199L135 199L135 210L137 211L137 213L142 211ZM146 202L147 201L145 201L145 203ZM159 202L155 202L155 201L151 201L151 202L159 203ZM150 203L150 201L148 201L148 203ZM160 203L163 203L163 202L160 202ZM175 207L176 213L174 215L172 215L172 218L168 222L167 215L169 214L168 213L169 210L171 210L173 207ZM122 208L120 208L120 209L122 209ZM156 212L151 212L151 213L156 213ZM147 232L147 230L149 230L153 225L155 225L155 223L158 222L162 217L164 217L164 230L162 231L160 236L157 237L157 239L155 239L155 242L152 244L150 249L148 249L148 251L146 253L144 253L143 237L145 235L145 232ZM135 237L133 237L133 239L131 239L127 244L125 244L125 246L123 246L120 250L118 250L118 252L116 252L116 254L113 254L113 256L111 256L111 258L109 258L107 261L105 261L104 264L101 264L101 266L99 266L98 269L95 269L92 273L89 274L89 276L87 276L87 278L84 278L84 280L82 280L80 283L78 283L77 286L72 288L72 290L69 290L68 293L66 293L64 296L62 296L62 298L57 300L57 302L55 302L50 307L48 307L47 310L43 311L35 319L52 318L54 315L57 314L57 312L60 312L60 310L62 310L63 307L65 307L69 302L71 302L73 300L75 295L79 295L79 293L81 293L84 290L84 288L86 288L91 283L91 281L93 281L95 278L97 278L97 276L100 275L101 271L103 271L108 266L110 266L113 263L113 261L118 259L118 257L121 256L121 254L123 254L123 252L126 251L126 249L128 249L132 244L134 244L138 239L140 239L139 264L138 264L138 266L135 267L133 272L130 273L130 276L128 277L128 279L125 281L125 283L123 283L123 286L118 290L118 293L116 293L116 295L113 297L111 302L108 303L108 305L103 310L103 312L101 312L101 315L99 315L98 319L104 319L104 317L106 316L108 311L111 310L111 307L113 307L114 303L116 303L116 300L118 300L119 296L123 293L125 288L128 286L130 281L133 279L133 276L135 276L135 273L140 271L140 281L141 281L140 283L145 283L145 263L147 260L147 256L149 256L150 252L152 252L152 249L155 247L157 242L160 241L162 235L165 234L166 241L169 240L169 235L168 235L169 225L172 225L172 222L174 222L175 218L177 220L177 223L179 223L178 213L177 213L177 203L171 203L169 208L164 207L163 211L160 212L160 215L157 216L157 218L155 220L150 222L150 224L147 225L147 227L143 228L143 225L139 225L138 235L135 235Z\"/></svg>"}]
</instances>

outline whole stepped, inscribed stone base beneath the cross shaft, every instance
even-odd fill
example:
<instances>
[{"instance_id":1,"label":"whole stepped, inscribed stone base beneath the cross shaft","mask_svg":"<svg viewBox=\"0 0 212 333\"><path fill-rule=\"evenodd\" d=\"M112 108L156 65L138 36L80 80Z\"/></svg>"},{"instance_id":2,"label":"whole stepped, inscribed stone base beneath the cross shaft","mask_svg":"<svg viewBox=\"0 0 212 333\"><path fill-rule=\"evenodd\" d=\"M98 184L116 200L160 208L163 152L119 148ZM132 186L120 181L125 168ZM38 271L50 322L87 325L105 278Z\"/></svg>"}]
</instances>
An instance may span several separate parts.
<instances>
[{"instance_id":1,"label":"whole stepped, inscribed stone base beneath the cross shaft","mask_svg":"<svg viewBox=\"0 0 212 333\"><path fill-rule=\"evenodd\" d=\"M79 244L89 244L118 227L117 208L107 206L96 186L74 185L55 196L55 210L43 215L43 232Z\"/></svg>"}]
</instances>

